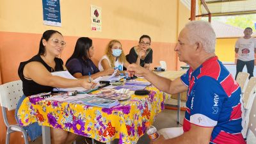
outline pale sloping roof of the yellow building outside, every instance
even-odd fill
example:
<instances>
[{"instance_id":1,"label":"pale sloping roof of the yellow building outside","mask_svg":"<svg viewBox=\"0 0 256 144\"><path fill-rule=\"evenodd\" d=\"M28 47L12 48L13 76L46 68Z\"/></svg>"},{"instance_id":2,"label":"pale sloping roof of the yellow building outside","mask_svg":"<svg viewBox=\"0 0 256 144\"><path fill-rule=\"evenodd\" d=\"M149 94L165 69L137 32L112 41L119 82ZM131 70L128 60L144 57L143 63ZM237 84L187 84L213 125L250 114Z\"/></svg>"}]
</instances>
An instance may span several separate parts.
<instances>
[{"instance_id":1,"label":"pale sloping roof of the yellow building outside","mask_svg":"<svg viewBox=\"0 0 256 144\"><path fill-rule=\"evenodd\" d=\"M244 36L244 29L225 24L223 22L218 22L216 20L211 22L212 28L216 33L217 38L230 38L230 37L241 37ZM252 36L256 36L253 32Z\"/></svg>"}]
</instances>

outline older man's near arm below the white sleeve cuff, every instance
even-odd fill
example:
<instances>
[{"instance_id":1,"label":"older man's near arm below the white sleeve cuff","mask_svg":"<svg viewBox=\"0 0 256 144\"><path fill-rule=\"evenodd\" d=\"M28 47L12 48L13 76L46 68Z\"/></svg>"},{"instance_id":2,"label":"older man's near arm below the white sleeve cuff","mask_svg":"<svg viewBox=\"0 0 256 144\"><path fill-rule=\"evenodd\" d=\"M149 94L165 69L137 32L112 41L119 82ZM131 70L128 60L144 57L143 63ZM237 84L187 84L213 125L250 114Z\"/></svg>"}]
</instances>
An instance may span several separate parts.
<instances>
[{"instance_id":1,"label":"older man's near arm below the white sleeve cuff","mask_svg":"<svg viewBox=\"0 0 256 144\"><path fill-rule=\"evenodd\" d=\"M163 136L161 138L152 141L153 144L208 144L211 139L213 127L200 127L198 125L191 124L191 129L184 134L165 140Z\"/></svg>"}]
</instances>

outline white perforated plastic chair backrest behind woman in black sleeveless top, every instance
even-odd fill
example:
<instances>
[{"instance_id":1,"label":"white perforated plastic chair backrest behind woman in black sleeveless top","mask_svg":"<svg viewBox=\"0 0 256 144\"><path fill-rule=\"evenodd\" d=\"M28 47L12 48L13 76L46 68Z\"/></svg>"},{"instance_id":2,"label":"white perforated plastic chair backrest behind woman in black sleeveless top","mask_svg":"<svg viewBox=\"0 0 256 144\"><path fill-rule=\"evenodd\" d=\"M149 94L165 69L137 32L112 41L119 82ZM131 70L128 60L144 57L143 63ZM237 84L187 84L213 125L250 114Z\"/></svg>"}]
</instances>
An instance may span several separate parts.
<instances>
[{"instance_id":1,"label":"white perforated plastic chair backrest behind woman in black sleeveless top","mask_svg":"<svg viewBox=\"0 0 256 144\"><path fill-rule=\"evenodd\" d=\"M1 106L7 108L8 111L17 107L17 103L22 97L22 81L12 81L0 86L0 102Z\"/></svg>"}]
</instances>

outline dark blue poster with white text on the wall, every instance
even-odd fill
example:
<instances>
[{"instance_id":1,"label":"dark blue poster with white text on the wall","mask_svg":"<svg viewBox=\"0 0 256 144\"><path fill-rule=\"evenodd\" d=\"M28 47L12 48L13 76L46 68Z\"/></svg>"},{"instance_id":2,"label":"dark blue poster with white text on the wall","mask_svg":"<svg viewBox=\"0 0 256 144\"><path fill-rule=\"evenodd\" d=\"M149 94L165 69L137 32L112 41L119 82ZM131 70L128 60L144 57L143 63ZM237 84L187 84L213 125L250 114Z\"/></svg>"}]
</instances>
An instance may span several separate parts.
<instances>
[{"instance_id":1,"label":"dark blue poster with white text on the wall","mask_svg":"<svg viewBox=\"0 0 256 144\"><path fill-rule=\"evenodd\" d=\"M49 26L61 26L60 0L42 0L44 24Z\"/></svg>"}]
</instances>

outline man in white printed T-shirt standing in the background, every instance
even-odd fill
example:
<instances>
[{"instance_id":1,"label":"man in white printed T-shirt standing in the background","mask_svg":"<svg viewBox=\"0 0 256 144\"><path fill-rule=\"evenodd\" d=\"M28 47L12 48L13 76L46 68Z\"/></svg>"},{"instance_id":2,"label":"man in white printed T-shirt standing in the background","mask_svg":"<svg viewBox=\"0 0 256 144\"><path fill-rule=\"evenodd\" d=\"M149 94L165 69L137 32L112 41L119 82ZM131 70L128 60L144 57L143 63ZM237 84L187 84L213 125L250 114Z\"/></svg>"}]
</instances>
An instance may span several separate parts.
<instances>
[{"instance_id":1,"label":"man in white printed T-shirt standing in the background","mask_svg":"<svg viewBox=\"0 0 256 144\"><path fill-rule=\"evenodd\" d=\"M252 36L252 28L244 29L244 36L239 38L235 45L235 51L237 53L236 62L236 77L239 72L243 71L244 65L246 65L247 72L250 77L253 77L254 68L254 54L256 51L256 40Z\"/></svg>"}]
</instances>

